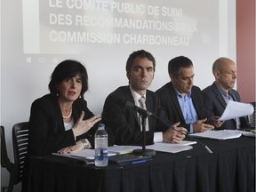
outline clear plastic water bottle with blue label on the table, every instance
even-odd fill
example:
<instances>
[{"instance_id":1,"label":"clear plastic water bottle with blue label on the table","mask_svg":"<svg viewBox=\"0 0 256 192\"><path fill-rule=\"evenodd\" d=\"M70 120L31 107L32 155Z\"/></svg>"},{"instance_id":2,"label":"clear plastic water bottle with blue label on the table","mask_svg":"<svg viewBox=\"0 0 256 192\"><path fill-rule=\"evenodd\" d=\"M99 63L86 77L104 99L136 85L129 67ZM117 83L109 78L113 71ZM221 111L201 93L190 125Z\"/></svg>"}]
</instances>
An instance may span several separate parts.
<instances>
[{"instance_id":1,"label":"clear plastic water bottle with blue label on the table","mask_svg":"<svg viewBox=\"0 0 256 192\"><path fill-rule=\"evenodd\" d=\"M95 161L96 166L108 165L108 132L105 130L105 124L99 124L95 132Z\"/></svg>"}]
</instances>

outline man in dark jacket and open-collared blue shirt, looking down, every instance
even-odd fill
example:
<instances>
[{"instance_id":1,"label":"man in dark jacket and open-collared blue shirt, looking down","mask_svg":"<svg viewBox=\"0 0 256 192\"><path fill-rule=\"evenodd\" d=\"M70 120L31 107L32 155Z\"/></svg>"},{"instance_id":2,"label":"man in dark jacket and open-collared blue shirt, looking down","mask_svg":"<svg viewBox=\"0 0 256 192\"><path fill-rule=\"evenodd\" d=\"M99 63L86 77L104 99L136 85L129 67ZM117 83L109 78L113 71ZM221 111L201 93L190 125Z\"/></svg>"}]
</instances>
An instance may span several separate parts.
<instances>
[{"instance_id":1,"label":"man in dark jacket and open-collared blue shirt, looking down","mask_svg":"<svg viewBox=\"0 0 256 192\"><path fill-rule=\"evenodd\" d=\"M171 82L158 89L162 106L169 120L180 122L189 132L204 132L214 128L206 124L204 97L199 87L193 85L193 63L187 57L179 56L168 63Z\"/></svg>"}]
</instances>

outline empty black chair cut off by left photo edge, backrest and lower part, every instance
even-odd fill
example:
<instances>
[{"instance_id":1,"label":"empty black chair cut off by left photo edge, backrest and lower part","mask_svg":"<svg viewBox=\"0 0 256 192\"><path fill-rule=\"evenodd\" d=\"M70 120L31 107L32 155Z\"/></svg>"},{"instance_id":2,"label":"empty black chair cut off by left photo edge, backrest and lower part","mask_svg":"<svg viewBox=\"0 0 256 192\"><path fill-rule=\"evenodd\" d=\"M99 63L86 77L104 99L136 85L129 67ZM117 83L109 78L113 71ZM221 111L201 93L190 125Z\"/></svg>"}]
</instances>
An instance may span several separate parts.
<instances>
[{"instance_id":1,"label":"empty black chair cut off by left photo edge, backrest and lower part","mask_svg":"<svg viewBox=\"0 0 256 192\"><path fill-rule=\"evenodd\" d=\"M4 135L4 126L1 125L1 166L6 168L10 172L8 192L12 192L12 188L15 180L15 164L13 164L7 154L6 141Z\"/></svg>"}]
</instances>

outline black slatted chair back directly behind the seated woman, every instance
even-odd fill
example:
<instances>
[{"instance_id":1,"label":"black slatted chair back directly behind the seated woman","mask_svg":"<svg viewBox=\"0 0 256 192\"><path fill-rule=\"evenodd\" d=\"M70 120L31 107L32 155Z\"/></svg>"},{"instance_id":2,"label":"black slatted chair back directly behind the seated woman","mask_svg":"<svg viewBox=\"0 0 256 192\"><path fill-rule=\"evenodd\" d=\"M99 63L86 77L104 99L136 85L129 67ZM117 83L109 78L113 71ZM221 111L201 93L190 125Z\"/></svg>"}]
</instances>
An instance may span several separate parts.
<instances>
[{"instance_id":1,"label":"black slatted chair back directly behind the seated woman","mask_svg":"<svg viewBox=\"0 0 256 192\"><path fill-rule=\"evenodd\" d=\"M15 184L22 180L25 166L28 163L28 126L28 122L22 122L12 127L14 164L17 166Z\"/></svg>"}]
</instances>

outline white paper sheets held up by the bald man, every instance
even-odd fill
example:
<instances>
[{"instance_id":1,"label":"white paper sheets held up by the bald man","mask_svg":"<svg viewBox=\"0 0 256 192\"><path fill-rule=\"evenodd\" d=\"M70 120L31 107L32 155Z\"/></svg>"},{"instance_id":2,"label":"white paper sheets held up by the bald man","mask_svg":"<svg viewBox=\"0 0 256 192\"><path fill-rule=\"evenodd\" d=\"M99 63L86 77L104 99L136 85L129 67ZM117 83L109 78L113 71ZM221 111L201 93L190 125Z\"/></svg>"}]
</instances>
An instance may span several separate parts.
<instances>
[{"instance_id":1,"label":"white paper sheets held up by the bald man","mask_svg":"<svg viewBox=\"0 0 256 192\"><path fill-rule=\"evenodd\" d=\"M225 108L222 116L218 119L219 121L226 121L241 116L250 116L253 113L253 106L250 103L236 102L229 100L228 105Z\"/></svg>"}]
</instances>

